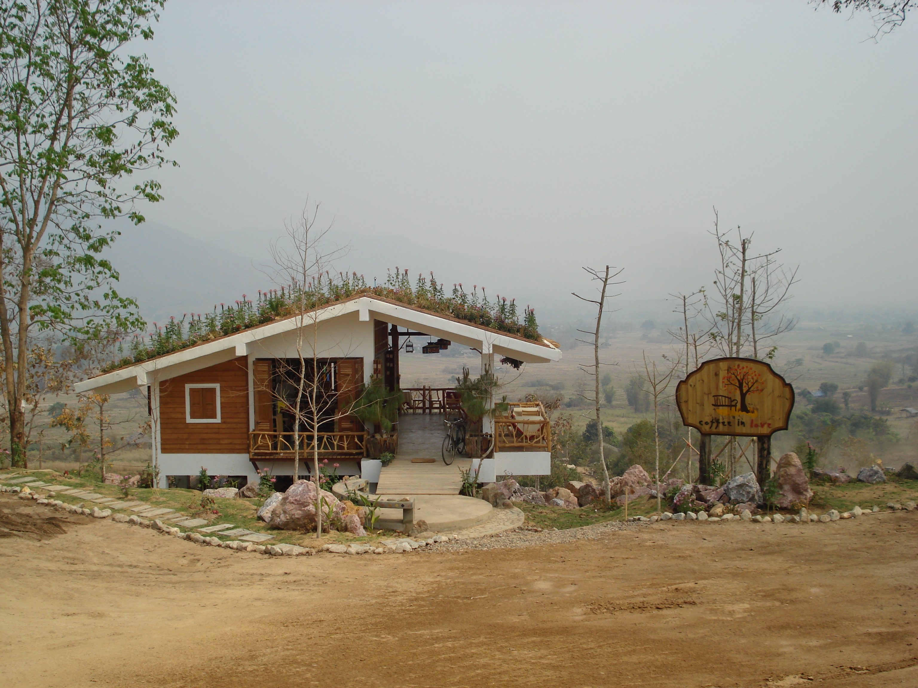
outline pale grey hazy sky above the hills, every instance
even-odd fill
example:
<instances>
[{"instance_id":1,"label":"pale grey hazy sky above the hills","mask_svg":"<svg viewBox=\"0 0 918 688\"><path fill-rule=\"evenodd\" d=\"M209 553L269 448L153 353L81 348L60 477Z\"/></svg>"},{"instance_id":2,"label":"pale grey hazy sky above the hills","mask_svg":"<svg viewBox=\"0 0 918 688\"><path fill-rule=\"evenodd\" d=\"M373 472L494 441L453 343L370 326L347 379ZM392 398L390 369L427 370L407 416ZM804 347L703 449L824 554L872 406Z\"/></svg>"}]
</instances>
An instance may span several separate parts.
<instances>
[{"instance_id":1,"label":"pale grey hazy sky above the hills","mask_svg":"<svg viewBox=\"0 0 918 688\"><path fill-rule=\"evenodd\" d=\"M563 304L581 265L623 267L625 299L710 283L717 205L800 263L801 306L913 308L918 16L879 43L846 19L173 0L142 50L178 97L181 168L143 211L248 256L309 196L355 243L341 267L370 271L359 237L388 236L435 249L448 283Z\"/></svg>"}]
</instances>

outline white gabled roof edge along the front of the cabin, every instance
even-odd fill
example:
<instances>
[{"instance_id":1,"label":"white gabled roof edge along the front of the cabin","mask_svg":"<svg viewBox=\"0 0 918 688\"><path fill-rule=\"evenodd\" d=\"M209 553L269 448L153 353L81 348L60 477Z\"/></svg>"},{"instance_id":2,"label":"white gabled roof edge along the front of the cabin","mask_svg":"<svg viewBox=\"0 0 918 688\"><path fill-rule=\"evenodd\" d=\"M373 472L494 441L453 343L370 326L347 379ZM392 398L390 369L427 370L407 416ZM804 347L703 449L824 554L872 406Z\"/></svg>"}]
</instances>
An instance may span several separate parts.
<instances>
[{"instance_id":1,"label":"white gabled roof edge along the front of the cabin","mask_svg":"<svg viewBox=\"0 0 918 688\"><path fill-rule=\"evenodd\" d=\"M482 353L493 352L528 363L561 360L561 350L545 339L536 342L516 337L490 327L474 325L450 316L439 316L430 311L399 304L378 296L355 296L309 311L307 313L308 324L312 325L313 317L322 322L348 313L359 313L362 321L378 319L400 327L418 329L425 334L449 339L480 350ZM287 316L264 325L244 329L236 334L202 342L187 349L106 372L103 375L84 380L82 383L76 383L74 389L78 393L95 391L100 394L118 394L128 392L135 387L151 384L154 379L166 380L177 375L184 375L186 372L229 361L237 356L246 356L249 353L249 344L252 342L289 332L301 325L300 316Z\"/></svg>"}]
</instances>

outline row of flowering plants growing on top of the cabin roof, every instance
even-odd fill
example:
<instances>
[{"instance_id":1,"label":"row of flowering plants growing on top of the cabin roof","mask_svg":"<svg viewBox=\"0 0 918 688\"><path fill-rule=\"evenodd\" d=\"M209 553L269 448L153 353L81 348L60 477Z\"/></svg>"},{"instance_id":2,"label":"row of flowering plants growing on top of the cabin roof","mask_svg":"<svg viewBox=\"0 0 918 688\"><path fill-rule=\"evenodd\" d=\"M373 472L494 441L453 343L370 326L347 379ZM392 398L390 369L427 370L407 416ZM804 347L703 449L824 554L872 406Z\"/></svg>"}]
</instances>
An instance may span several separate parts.
<instances>
[{"instance_id":1,"label":"row of flowering plants growing on top of the cabin roof","mask_svg":"<svg viewBox=\"0 0 918 688\"><path fill-rule=\"evenodd\" d=\"M124 343L120 342L118 350L122 357L106 366L103 372L296 315L301 305L311 310L360 294L381 296L538 341L539 326L532 308L526 306L523 309L521 322L515 300L498 295L496 300L491 301L484 287L481 287L480 295L478 291L477 284L469 294L462 283L457 283L453 284L452 293L447 294L443 285L434 278L433 272L429 279L418 275L416 283L412 285L408 270L396 268L388 272L386 283L373 286L367 284L364 276L356 272L339 272L337 275L323 272L305 285L293 283L266 292L259 290L254 299L242 294L242 298L235 304L220 304L219 310L215 305L210 313L185 313L180 319L173 316L165 325L154 322L150 333L135 336L129 342L128 355L124 355Z\"/></svg>"}]
</instances>

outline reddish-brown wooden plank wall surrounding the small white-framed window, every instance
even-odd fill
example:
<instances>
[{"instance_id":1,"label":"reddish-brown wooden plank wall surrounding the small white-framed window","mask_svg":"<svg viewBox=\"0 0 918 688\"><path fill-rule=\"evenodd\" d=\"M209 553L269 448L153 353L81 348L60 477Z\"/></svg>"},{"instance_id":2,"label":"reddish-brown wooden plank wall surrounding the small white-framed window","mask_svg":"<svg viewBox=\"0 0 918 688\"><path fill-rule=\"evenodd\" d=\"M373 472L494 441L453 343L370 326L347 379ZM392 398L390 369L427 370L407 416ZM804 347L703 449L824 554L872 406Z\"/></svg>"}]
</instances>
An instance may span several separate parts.
<instances>
[{"instance_id":1,"label":"reddish-brown wooden plank wall surrounding the small white-framed window","mask_svg":"<svg viewBox=\"0 0 918 688\"><path fill-rule=\"evenodd\" d=\"M219 423L185 422L185 384L219 383ZM248 454L249 373L241 356L160 383L163 454Z\"/></svg>"}]
</instances>

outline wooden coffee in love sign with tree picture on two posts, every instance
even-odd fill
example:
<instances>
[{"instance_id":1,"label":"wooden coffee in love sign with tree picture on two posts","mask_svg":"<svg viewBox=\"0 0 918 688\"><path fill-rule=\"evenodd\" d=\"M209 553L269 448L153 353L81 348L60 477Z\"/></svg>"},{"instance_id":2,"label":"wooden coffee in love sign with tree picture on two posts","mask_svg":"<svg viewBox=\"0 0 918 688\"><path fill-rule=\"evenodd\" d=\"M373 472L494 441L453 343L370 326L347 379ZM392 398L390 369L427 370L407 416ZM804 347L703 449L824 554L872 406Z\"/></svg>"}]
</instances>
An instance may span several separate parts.
<instances>
[{"instance_id":1,"label":"wooden coffee in love sign with tree picture on two posts","mask_svg":"<svg viewBox=\"0 0 918 688\"><path fill-rule=\"evenodd\" d=\"M756 480L765 485L771 436L786 430L794 388L770 365L756 359L704 361L676 387L682 424L701 433L699 483L711 482L711 435L756 438Z\"/></svg>"}]
</instances>

